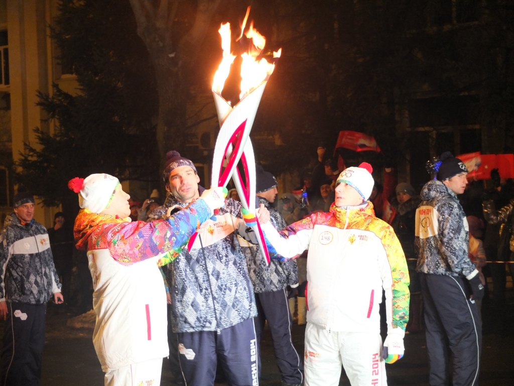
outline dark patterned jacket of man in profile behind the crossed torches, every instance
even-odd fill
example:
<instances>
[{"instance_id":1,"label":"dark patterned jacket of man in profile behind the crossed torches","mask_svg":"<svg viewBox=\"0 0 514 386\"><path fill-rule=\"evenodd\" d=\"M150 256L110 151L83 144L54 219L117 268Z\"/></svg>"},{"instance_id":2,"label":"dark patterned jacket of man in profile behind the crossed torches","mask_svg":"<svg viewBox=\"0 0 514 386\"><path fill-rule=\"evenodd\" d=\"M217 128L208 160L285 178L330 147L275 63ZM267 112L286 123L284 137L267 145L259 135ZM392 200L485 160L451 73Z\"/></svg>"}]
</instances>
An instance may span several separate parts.
<instances>
[{"instance_id":1,"label":"dark patterned jacket of man in profile behind the crossed torches","mask_svg":"<svg viewBox=\"0 0 514 386\"><path fill-rule=\"evenodd\" d=\"M260 204L269 210L270 221L279 231L284 229L287 224L277 209L273 208L268 200L258 197L259 202L255 203L258 208ZM298 284L298 268L296 260L276 260L271 259L269 266L261 253L259 245L242 248L248 264L248 273L252 280L253 289L256 293L279 291L287 286Z\"/></svg>"}]
</instances>

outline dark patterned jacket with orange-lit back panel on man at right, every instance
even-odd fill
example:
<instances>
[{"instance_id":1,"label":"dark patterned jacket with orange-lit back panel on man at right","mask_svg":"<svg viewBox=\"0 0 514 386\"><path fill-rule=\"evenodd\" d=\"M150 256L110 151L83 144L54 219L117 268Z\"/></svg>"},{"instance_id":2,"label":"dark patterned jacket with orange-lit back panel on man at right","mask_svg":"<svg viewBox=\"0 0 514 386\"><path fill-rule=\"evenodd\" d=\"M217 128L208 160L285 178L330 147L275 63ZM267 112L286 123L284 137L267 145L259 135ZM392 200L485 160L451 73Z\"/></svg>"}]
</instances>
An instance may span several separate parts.
<instances>
[{"instance_id":1,"label":"dark patterned jacket with orange-lit back panel on man at right","mask_svg":"<svg viewBox=\"0 0 514 386\"><path fill-rule=\"evenodd\" d=\"M416 271L468 276L475 265L468 257L468 223L457 196L441 181L432 180L421 190L421 199L416 210Z\"/></svg>"}]
</instances>

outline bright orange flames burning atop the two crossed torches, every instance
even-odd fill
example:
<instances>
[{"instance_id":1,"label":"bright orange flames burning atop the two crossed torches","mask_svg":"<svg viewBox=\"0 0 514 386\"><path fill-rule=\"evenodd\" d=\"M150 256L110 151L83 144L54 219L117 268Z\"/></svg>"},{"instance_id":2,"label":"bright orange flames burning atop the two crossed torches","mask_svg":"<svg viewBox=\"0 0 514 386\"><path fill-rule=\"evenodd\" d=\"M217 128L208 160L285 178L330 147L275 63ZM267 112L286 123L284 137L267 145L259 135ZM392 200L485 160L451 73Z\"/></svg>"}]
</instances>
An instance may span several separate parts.
<instances>
[{"instance_id":1,"label":"bright orange flames burning atop the two crossed torches","mask_svg":"<svg viewBox=\"0 0 514 386\"><path fill-rule=\"evenodd\" d=\"M243 25L241 26L241 36L237 38L237 40L240 40L243 37L249 13L250 7L248 7L246 10L245 19L243 21ZM223 59L219 64L216 74L214 74L212 91L221 95L225 81L227 80L230 73L230 66L233 63L235 56L230 53L230 24L222 24L218 32L222 36ZM251 39L252 44L248 48L248 51L241 55L243 62L241 64L242 79L240 99L243 99L245 96L250 94L253 89L259 87L261 83L268 80L269 76L273 73L273 69L275 68L274 63L269 63L264 58L257 60L257 57L261 55L261 52L266 45L266 38L253 27L253 21L250 22L250 27L244 34L247 39ZM273 52L273 58L280 58L281 53L282 48L276 52Z\"/></svg>"}]
</instances>

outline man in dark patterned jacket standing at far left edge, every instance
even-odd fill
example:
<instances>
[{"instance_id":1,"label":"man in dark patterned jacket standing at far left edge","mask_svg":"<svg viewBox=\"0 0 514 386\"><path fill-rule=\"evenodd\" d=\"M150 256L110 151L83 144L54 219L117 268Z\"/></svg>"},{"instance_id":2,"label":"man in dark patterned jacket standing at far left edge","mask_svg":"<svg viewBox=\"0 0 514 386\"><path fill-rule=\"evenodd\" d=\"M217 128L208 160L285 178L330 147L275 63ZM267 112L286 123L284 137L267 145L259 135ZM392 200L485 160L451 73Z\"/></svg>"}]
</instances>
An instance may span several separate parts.
<instances>
[{"instance_id":1,"label":"man in dark patterned jacket standing at far left edge","mask_svg":"<svg viewBox=\"0 0 514 386\"><path fill-rule=\"evenodd\" d=\"M34 206L28 191L18 192L0 236L0 318L7 319L0 379L5 385L39 385L46 303L52 295L63 302L48 233L33 219Z\"/></svg>"}]
</instances>

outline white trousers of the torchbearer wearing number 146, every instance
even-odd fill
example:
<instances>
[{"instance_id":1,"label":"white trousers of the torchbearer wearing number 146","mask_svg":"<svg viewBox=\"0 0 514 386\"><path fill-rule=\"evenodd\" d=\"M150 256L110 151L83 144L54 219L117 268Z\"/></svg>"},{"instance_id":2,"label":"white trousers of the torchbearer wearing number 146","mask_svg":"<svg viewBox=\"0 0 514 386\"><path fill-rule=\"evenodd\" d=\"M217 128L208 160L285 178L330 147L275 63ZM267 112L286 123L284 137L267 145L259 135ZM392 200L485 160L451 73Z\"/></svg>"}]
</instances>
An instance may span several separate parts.
<instances>
[{"instance_id":1,"label":"white trousers of the torchbearer wearing number 146","mask_svg":"<svg viewBox=\"0 0 514 386\"><path fill-rule=\"evenodd\" d=\"M328 332L307 323L305 386L337 386L341 365L352 386L387 386L382 338L369 332Z\"/></svg>"}]
</instances>

